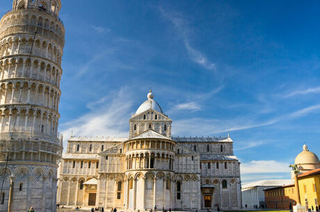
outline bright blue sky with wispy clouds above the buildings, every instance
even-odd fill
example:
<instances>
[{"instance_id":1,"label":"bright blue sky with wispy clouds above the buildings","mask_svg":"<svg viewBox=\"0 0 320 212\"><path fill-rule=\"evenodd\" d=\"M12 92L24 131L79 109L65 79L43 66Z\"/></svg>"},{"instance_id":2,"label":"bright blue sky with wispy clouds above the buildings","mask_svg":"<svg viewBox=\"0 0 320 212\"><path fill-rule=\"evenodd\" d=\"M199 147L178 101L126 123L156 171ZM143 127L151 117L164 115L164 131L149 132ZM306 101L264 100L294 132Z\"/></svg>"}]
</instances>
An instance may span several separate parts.
<instances>
[{"instance_id":1,"label":"bright blue sky with wispy clouds above the buildings","mask_svg":"<svg viewBox=\"0 0 320 212\"><path fill-rule=\"evenodd\" d=\"M289 178L320 153L319 6L65 0L60 131L125 137L152 88L174 136L230 133L244 182Z\"/></svg>"}]
</instances>

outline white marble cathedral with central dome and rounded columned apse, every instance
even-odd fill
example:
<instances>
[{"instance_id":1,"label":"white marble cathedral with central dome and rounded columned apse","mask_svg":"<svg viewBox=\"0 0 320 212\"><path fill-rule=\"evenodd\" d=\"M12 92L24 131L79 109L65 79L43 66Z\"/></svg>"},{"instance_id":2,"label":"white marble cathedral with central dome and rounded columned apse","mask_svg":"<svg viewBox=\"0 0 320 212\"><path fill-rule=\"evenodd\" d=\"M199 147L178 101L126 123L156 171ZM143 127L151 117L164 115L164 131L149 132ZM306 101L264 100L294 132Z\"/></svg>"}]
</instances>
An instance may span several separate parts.
<instances>
[{"instance_id":1,"label":"white marble cathedral with central dome and rounded columned apse","mask_svg":"<svg viewBox=\"0 0 320 212\"><path fill-rule=\"evenodd\" d=\"M70 138L58 203L124 211L240 209L232 139L173 138L171 124L150 91L129 120L129 138Z\"/></svg>"}]
</instances>

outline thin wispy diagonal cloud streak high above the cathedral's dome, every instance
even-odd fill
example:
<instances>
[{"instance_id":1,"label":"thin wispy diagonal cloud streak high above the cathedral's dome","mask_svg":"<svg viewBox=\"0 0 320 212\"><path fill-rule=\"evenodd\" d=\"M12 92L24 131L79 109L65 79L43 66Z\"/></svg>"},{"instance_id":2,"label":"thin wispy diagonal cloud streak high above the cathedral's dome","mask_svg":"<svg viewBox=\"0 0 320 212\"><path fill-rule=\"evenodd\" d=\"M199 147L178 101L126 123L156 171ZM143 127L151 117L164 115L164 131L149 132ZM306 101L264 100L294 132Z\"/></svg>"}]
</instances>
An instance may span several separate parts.
<instances>
[{"instance_id":1,"label":"thin wispy diagonal cloud streak high above the cathedral's dome","mask_svg":"<svg viewBox=\"0 0 320 212\"><path fill-rule=\"evenodd\" d=\"M188 26L188 22L181 14L177 12L169 12L163 10L163 8L159 8L161 15L164 19L169 20L173 26L175 26L175 30L182 37L184 42L184 47L189 54L189 57L193 62L198 63L207 70L216 70L216 65L212 63L205 54L202 54L198 49L195 49L191 46L189 37L191 34L191 30Z\"/></svg>"}]
</instances>

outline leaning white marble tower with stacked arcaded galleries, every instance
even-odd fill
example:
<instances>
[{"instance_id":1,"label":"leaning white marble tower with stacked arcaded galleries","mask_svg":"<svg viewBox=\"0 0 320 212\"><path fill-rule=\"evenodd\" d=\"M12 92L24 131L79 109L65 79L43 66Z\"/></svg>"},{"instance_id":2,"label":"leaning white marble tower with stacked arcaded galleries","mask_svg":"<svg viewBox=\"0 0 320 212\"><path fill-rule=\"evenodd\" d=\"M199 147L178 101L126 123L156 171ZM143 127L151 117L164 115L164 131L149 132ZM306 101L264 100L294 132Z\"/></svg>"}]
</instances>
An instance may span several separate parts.
<instances>
[{"instance_id":1,"label":"leaning white marble tower with stacked arcaded galleries","mask_svg":"<svg viewBox=\"0 0 320 212\"><path fill-rule=\"evenodd\" d=\"M56 211L61 0L13 0L0 21L0 211Z\"/></svg>"}]
</instances>

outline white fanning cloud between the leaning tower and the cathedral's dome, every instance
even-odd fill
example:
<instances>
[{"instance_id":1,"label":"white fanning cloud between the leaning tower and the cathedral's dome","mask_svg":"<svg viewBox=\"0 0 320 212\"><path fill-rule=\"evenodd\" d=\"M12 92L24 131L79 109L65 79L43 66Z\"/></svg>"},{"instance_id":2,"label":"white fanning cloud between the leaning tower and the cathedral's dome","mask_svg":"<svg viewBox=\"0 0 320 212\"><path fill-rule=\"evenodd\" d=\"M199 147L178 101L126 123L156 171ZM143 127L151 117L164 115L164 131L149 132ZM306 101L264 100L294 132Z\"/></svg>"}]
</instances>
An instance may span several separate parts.
<instances>
[{"instance_id":1,"label":"white fanning cloud between the leaning tower and the cathedral's dome","mask_svg":"<svg viewBox=\"0 0 320 212\"><path fill-rule=\"evenodd\" d=\"M118 92L111 92L111 95L88 104L88 113L61 125L65 140L70 138L71 132L74 136L127 137L132 106L129 94L128 88L121 88Z\"/></svg>"}]
</instances>

